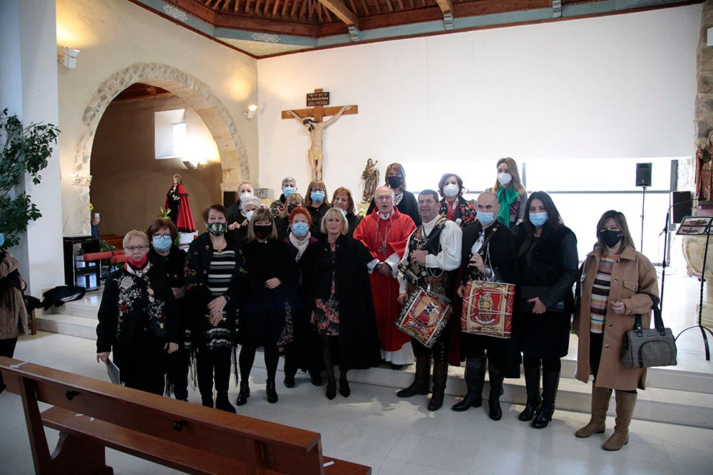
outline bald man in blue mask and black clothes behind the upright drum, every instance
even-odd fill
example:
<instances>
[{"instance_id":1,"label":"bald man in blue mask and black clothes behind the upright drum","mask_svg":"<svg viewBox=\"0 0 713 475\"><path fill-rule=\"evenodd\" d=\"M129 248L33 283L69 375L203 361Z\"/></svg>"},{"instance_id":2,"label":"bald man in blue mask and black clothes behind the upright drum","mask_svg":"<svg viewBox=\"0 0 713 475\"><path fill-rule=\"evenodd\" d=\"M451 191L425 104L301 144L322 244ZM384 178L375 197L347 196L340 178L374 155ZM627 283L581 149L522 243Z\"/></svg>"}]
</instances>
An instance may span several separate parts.
<instances>
[{"instance_id":1,"label":"bald man in blue mask and black clothes behind the upright drum","mask_svg":"<svg viewBox=\"0 0 713 475\"><path fill-rule=\"evenodd\" d=\"M458 297L463 298L468 281L515 283L517 241L513 231L498 221L499 211L500 204L495 193L484 192L478 195L477 220L463 230ZM463 302L463 305L467 305L467 302ZM478 302L477 305L481 311L486 310L488 305L491 309L492 298L489 303ZM466 358L465 379L468 392L463 400L453 404L451 409L465 411L471 407L481 407L487 367L490 376L489 416L493 420L500 420L503 417L500 407L503 378L520 377L520 351L515 340L461 333L461 357Z\"/></svg>"}]
</instances>

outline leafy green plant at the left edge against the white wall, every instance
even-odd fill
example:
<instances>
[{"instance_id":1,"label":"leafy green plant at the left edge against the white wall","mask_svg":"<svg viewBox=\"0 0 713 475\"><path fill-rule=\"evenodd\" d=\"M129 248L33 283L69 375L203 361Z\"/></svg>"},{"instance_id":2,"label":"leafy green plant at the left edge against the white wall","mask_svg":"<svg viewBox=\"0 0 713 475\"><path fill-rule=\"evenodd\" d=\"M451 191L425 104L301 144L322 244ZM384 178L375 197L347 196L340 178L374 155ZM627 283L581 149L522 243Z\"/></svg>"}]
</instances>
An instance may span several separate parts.
<instances>
[{"instance_id":1,"label":"leafy green plant at the left edge against the white wall","mask_svg":"<svg viewBox=\"0 0 713 475\"><path fill-rule=\"evenodd\" d=\"M19 244L29 221L42 216L19 185L24 174L39 184L39 172L47 167L58 135L56 125L32 123L23 127L7 109L0 113L0 232L5 235L6 248Z\"/></svg>"}]
</instances>

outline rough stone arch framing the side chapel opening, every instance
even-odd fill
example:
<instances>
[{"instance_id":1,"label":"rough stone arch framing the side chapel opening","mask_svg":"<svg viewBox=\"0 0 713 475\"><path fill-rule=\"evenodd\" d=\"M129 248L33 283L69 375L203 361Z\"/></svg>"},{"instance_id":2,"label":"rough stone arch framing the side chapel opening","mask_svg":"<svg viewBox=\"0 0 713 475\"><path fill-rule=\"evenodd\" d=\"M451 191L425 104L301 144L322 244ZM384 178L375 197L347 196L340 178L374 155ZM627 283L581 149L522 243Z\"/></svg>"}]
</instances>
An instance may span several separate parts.
<instances>
[{"instance_id":1,"label":"rough stone arch framing the side chapel opening","mask_svg":"<svg viewBox=\"0 0 713 475\"><path fill-rule=\"evenodd\" d=\"M247 152L232 116L210 88L193 75L166 64L134 63L103 81L84 110L85 127L74 154L71 182L74 188L73 235L90 234L86 219L91 184L91 150L94 135L106 108L118 93L133 83L146 83L170 90L185 100L207 125L215 140L222 168L221 191L237 189L237 184L249 179Z\"/></svg>"}]
</instances>

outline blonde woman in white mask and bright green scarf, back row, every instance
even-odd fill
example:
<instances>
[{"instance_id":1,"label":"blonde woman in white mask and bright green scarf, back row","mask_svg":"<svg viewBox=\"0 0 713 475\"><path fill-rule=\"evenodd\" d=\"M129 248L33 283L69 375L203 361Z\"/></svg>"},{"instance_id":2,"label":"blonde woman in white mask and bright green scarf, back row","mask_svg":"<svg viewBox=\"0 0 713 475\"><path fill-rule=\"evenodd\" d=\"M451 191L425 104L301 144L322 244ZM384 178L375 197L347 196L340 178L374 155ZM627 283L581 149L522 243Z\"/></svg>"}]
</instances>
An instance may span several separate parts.
<instances>
[{"instance_id":1,"label":"blonde woman in white mask and bright green scarf, back row","mask_svg":"<svg viewBox=\"0 0 713 475\"><path fill-rule=\"evenodd\" d=\"M498 179L491 191L498 195L498 221L511 229L523 222L528 192L520 179L518 164L511 157L498 160Z\"/></svg>"}]
</instances>

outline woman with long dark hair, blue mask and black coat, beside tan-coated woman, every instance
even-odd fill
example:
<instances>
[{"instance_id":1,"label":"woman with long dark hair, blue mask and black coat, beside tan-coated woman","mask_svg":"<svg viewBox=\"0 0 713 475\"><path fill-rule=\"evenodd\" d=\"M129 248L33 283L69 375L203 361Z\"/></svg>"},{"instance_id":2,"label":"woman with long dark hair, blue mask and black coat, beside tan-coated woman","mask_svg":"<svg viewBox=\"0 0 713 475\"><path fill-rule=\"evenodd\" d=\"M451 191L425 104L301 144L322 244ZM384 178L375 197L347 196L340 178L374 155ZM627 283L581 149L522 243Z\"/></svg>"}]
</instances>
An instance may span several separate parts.
<instances>
[{"instance_id":1,"label":"woman with long dark hair, blue mask and black coat, beside tan-coated woman","mask_svg":"<svg viewBox=\"0 0 713 475\"><path fill-rule=\"evenodd\" d=\"M525 410L518 419L532 419L532 427L543 429L555 412L560 358L569 349L570 317L574 310L572 286L579 266L577 238L564 225L545 192L530 194L517 236L518 327L528 395Z\"/></svg>"}]
</instances>

